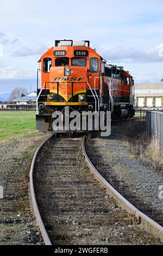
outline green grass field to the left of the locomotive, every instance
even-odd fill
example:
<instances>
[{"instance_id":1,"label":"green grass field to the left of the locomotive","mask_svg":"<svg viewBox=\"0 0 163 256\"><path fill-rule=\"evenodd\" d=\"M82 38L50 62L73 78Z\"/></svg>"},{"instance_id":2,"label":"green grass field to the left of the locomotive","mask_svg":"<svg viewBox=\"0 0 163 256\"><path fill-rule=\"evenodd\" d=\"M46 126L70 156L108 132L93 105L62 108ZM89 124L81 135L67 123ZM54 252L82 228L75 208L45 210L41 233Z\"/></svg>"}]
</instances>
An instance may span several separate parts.
<instances>
[{"instance_id":1,"label":"green grass field to the left of the locomotive","mask_svg":"<svg viewBox=\"0 0 163 256\"><path fill-rule=\"evenodd\" d=\"M0 111L0 140L36 129L36 111Z\"/></svg>"}]
</instances>

